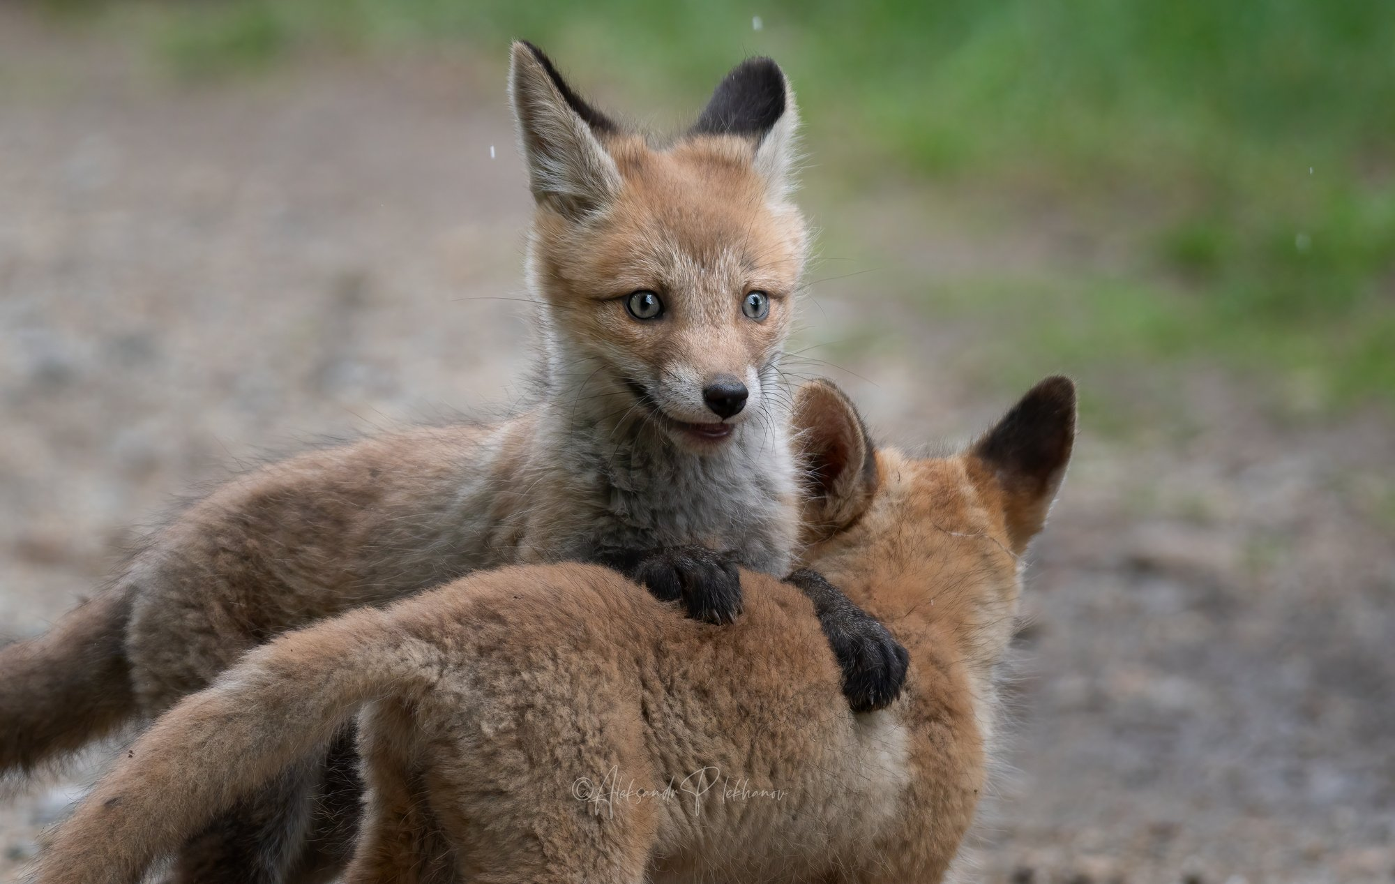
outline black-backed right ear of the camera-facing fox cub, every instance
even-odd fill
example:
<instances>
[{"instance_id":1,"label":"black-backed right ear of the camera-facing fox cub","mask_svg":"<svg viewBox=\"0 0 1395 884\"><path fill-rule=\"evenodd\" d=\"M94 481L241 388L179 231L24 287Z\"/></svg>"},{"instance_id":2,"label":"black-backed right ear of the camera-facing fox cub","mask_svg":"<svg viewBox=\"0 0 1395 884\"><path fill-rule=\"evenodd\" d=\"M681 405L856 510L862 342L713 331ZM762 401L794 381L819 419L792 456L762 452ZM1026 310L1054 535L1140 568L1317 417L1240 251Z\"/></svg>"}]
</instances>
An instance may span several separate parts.
<instances>
[{"instance_id":1,"label":"black-backed right ear of the camera-facing fox cub","mask_svg":"<svg viewBox=\"0 0 1395 884\"><path fill-rule=\"evenodd\" d=\"M693 135L742 135L756 142L755 166L771 190L794 187L799 112L784 71L770 59L746 59L717 84Z\"/></svg>"}]
</instances>

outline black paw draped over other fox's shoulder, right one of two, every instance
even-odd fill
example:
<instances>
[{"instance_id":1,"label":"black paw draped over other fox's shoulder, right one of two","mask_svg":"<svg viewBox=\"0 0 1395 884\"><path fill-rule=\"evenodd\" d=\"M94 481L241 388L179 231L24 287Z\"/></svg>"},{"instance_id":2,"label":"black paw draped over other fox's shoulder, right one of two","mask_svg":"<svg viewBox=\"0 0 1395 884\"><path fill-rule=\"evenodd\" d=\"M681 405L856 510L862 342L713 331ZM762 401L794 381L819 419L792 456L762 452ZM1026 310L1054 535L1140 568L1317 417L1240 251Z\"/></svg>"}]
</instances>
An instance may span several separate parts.
<instances>
[{"instance_id":1,"label":"black paw draped over other fox's shoulder, right one of two","mask_svg":"<svg viewBox=\"0 0 1395 884\"><path fill-rule=\"evenodd\" d=\"M875 616L858 608L823 574L801 569L787 577L813 601L819 625L843 669L843 696L854 712L872 712L901 696L910 654Z\"/></svg>"}]
</instances>

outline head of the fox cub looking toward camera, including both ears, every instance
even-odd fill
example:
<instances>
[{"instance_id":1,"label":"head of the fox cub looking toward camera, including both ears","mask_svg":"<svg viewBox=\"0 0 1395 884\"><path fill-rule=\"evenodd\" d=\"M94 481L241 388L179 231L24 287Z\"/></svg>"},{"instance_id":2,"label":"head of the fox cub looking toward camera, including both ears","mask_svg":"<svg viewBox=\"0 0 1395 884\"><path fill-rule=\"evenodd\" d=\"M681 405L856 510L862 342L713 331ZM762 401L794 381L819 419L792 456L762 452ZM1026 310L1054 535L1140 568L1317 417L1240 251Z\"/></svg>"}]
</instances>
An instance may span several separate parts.
<instances>
[{"instance_id":1,"label":"head of the fox cub looking toward camera, including both ears","mask_svg":"<svg viewBox=\"0 0 1395 884\"><path fill-rule=\"evenodd\" d=\"M515 43L509 92L537 201L529 277L555 381L597 422L710 453L769 417L808 233L790 201L797 112L751 59L667 146Z\"/></svg>"}]
</instances>

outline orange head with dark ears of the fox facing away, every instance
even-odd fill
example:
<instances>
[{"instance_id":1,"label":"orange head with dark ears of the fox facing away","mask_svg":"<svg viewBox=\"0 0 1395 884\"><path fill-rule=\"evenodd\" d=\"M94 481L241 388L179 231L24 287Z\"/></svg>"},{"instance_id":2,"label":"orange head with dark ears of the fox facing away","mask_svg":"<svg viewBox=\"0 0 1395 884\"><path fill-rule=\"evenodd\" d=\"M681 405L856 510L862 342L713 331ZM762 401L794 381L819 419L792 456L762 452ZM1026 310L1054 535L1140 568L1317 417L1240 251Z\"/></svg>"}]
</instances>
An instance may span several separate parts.
<instances>
[{"instance_id":1,"label":"orange head with dark ears of the fox facing away","mask_svg":"<svg viewBox=\"0 0 1395 884\"><path fill-rule=\"evenodd\" d=\"M937 618L965 662L990 669L1011 637L1021 556L1070 463L1076 385L1046 378L953 457L877 449L827 381L802 386L792 416L805 561L887 623Z\"/></svg>"}]
</instances>

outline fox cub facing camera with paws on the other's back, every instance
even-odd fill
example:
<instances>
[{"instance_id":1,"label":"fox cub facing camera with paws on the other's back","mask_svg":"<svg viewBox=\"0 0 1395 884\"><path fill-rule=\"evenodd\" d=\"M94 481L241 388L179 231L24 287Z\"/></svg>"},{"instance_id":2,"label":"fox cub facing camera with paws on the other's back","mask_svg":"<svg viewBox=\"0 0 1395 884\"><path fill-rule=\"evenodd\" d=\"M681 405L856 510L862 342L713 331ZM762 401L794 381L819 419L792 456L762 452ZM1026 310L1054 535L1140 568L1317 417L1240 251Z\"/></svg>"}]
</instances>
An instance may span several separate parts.
<instances>
[{"instance_id":1,"label":"fox cub facing camera with paws on the other's back","mask_svg":"<svg viewBox=\"0 0 1395 884\"><path fill-rule=\"evenodd\" d=\"M784 74L738 66L664 148L582 100L529 43L513 45L509 95L536 197L536 403L494 425L301 455L193 506L109 591L0 650L0 774L162 712L278 633L481 567L610 563L709 622L741 611L731 562L788 570L797 466L777 363L808 234L790 201ZM882 706L904 651L837 611L850 701ZM176 878L332 864L306 846L317 771L212 824ZM342 805L352 818L356 796Z\"/></svg>"}]
</instances>

